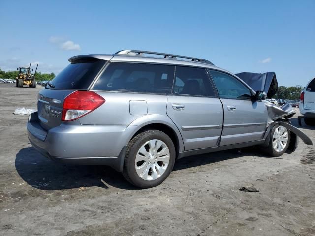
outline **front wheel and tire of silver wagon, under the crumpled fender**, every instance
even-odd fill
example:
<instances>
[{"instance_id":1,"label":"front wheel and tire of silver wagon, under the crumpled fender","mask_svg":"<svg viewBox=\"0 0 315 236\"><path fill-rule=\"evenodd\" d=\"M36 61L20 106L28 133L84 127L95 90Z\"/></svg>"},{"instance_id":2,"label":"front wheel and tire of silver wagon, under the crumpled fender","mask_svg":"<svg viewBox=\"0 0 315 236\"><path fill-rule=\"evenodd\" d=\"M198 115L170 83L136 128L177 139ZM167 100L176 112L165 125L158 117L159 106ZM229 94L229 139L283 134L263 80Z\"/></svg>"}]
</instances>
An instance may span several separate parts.
<instances>
[{"instance_id":1,"label":"front wheel and tire of silver wagon, under the crumpled fender","mask_svg":"<svg viewBox=\"0 0 315 236\"><path fill-rule=\"evenodd\" d=\"M289 147L290 131L281 125L276 125L271 131L266 152L270 156L281 156Z\"/></svg>"}]
</instances>

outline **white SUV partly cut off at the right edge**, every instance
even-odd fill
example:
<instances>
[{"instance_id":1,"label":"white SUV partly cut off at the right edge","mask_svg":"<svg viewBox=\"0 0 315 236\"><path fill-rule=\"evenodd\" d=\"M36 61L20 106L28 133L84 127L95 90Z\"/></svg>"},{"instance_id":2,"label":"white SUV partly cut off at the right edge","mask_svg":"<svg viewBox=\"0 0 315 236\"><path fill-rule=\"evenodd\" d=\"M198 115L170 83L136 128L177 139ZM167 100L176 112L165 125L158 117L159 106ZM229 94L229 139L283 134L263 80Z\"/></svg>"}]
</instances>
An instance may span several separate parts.
<instances>
[{"instance_id":1,"label":"white SUV partly cut off at the right edge","mask_svg":"<svg viewBox=\"0 0 315 236\"><path fill-rule=\"evenodd\" d=\"M315 78L313 78L303 89L300 97L300 113L299 124L301 118L307 125L315 125Z\"/></svg>"}]
</instances>

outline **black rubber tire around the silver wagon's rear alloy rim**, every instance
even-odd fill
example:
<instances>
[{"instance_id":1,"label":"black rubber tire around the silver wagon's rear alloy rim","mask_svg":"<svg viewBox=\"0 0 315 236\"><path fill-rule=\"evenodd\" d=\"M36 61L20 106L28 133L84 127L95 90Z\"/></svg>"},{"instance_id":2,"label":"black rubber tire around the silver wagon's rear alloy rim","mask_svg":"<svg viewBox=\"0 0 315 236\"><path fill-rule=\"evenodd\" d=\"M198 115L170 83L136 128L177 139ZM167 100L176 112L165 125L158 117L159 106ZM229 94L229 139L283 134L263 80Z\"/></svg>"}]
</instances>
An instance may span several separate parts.
<instances>
[{"instance_id":1,"label":"black rubber tire around the silver wagon's rear alloy rim","mask_svg":"<svg viewBox=\"0 0 315 236\"><path fill-rule=\"evenodd\" d=\"M135 158L139 148L141 148L141 146L144 145L147 141L153 139L161 140L166 144L170 153L169 163L165 172L160 177L158 177L155 180L145 180L138 176L138 174L136 173ZM170 139L168 135L159 130L144 131L135 136L134 138L132 138L126 148L123 176L131 184L139 188L152 188L158 186L169 176L169 174L173 170L175 158L176 158L175 147L173 141Z\"/></svg>"}]
</instances>

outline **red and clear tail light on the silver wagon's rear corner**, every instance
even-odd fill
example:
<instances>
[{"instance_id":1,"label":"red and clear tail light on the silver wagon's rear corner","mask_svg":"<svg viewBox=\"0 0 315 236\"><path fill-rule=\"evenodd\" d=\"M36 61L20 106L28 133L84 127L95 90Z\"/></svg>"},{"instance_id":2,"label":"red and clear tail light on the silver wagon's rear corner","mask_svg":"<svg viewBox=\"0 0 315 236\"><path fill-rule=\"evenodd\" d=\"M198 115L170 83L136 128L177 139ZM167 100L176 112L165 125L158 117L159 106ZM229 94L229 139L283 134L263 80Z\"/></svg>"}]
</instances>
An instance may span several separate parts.
<instances>
[{"instance_id":1,"label":"red and clear tail light on the silver wagon's rear corner","mask_svg":"<svg viewBox=\"0 0 315 236\"><path fill-rule=\"evenodd\" d=\"M92 91L75 91L63 101L62 121L71 121L94 111L105 99Z\"/></svg>"}]
</instances>

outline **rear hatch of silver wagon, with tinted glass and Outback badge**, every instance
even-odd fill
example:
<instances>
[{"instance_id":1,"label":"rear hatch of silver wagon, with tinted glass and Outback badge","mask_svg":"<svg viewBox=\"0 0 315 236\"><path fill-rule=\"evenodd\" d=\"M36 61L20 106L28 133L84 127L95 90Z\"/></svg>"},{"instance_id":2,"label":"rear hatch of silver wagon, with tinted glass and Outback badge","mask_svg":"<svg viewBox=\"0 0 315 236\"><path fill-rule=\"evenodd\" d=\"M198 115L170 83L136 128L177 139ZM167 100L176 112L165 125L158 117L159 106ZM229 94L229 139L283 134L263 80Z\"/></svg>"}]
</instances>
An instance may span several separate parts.
<instances>
[{"instance_id":1,"label":"rear hatch of silver wagon, with tinted glass and Outback badge","mask_svg":"<svg viewBox=\"0 0 315 236\"><path fill-rule=\"evenodd\" d=\"M93 57L75 57L38 94L38 118L40 125L49 130L62 122L63 101L76 90L88 90L106 60Z\"/></svg>"}]
</instances>

